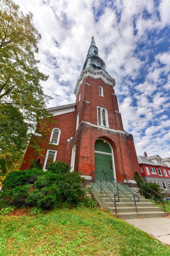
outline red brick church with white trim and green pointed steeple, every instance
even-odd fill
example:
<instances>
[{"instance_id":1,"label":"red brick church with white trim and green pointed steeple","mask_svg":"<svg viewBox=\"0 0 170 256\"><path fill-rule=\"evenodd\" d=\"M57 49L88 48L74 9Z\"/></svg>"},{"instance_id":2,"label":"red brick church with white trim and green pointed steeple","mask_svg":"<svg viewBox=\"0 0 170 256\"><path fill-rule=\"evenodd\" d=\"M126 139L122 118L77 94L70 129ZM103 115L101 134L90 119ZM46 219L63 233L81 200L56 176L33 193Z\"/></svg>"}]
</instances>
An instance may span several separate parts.
<instances>
[{"instance_id":1,"label":"red brick church with white trim and green pointed steeple","mask_svg":"<svg viewBox=\"0 0 170 256\"><path fill-rule=\"evenodd\" d=\"M75 85L76 102L48 108L58 124L49 125L49 141L42 144L44 157L40 163L45 170L50 162L65 161L71 171L79 171L91 181L91 172L104 180L104 172L118 181L139 171L133 136L122 124L118 101L114 91L115 79L105 69L92 37L90 48ZM41 134L34 133L41 138ZM58 145L58 146L57 146ZM30 167L32 149L28 145L21 170Z\"/></svg>"}]
</instances>

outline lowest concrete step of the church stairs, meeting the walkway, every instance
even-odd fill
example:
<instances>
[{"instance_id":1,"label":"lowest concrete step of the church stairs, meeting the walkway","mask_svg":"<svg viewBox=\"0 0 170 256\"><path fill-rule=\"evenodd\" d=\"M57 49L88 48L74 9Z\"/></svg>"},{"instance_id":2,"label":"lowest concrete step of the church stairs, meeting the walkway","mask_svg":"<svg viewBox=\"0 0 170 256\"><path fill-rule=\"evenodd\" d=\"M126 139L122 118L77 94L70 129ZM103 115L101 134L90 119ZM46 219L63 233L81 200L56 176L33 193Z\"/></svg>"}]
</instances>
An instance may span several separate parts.
<instances>
[{"instance_id":1,"label":"lowest concrete step of the church stairs, meeting the walkway","mask_svg":"<svg viewBox=\"0 0 170 256\"><path fill-rule=\"evenodd\" d=\"M157 207L159 208L159 207ZM110 210L108 208L108 210ZM120 212L117 215L115 213L113 213L113 215L117 218L121 218L121 219L137 219L137 218L160 218L160 217L166 217L168 215L167 212L162 212L162 211L158 211L158 212Z\"/></svg>"}]
</instances>

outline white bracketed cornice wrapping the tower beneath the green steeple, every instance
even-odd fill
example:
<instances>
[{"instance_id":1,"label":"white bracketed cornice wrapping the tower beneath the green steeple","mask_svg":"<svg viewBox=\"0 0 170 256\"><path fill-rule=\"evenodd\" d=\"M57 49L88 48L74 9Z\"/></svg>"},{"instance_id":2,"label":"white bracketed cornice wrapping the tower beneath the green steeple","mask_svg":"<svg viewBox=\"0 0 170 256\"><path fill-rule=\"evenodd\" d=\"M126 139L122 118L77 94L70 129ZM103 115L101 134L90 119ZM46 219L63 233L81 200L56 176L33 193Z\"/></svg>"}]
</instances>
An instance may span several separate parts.
<instances>
[{"instance_id":1,"label":"white bracketed cornice wrapping the tower beneath the green steeple","mask_svg":"<svg viewBox=\"0 0 170 256\"><path fill-rule=\"evenodd\" d=\"M94 70L92 68L86 68L83 69L81 71L80 76L77 79L77 83L74 89L74 94L75 96L77 96L78 92L79 92L79 88L80 85L83 84L83 81L86 77L92 77L94 79L99 79L101 78L103 80L103 82L105 82L106 84L114 87L115 86L115 79L112 77L109 77L108 74L106 74L103 69L98 69L98 70Z\"/></svg>"}]
</instances>

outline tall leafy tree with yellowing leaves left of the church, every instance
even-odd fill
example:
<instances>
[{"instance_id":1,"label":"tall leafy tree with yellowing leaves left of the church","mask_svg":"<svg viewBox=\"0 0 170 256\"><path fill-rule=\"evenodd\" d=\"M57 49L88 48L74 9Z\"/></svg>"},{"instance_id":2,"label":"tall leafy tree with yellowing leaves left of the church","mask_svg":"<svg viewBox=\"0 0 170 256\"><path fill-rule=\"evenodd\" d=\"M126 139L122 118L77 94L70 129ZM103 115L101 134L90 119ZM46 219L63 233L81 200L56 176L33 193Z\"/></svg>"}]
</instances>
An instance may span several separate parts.
<instances>
[{"instance_id":1,"label":"tall leafy tree with yellowing leaves left of the church","mask_svg":"<svg viewBox=\"0 0 170 256\"><path fill-rule=\"evenodd\" d=\"M33 14L24 15L12 0L0 1L0 159L6 165L21 157L31 137L41 155L33 132L47 139L48 122L54 122L46 110L51 97L41 86L48 75L38 70L34 56L41 34L32 20Z\"/></svg>"}]
</instances>

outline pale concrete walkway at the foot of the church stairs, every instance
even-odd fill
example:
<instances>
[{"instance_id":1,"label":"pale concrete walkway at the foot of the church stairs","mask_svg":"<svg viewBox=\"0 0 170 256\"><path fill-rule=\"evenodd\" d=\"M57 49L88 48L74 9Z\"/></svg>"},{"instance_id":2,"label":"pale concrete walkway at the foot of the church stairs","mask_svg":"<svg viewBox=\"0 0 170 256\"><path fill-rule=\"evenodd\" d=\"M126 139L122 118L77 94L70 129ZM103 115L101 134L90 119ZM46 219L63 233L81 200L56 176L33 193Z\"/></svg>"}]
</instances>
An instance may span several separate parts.
<instances>
[{"instance_id":1,"label":"pale concrete walkway at the foot of the church stairs","mask_svg":"<svg viewBox=\"0 0 170 256\"><path fill-rule=\"evenodd\" d=\"M139 218L125 221L170 245L170 218Z\"/></svg>"}]
</instances>

